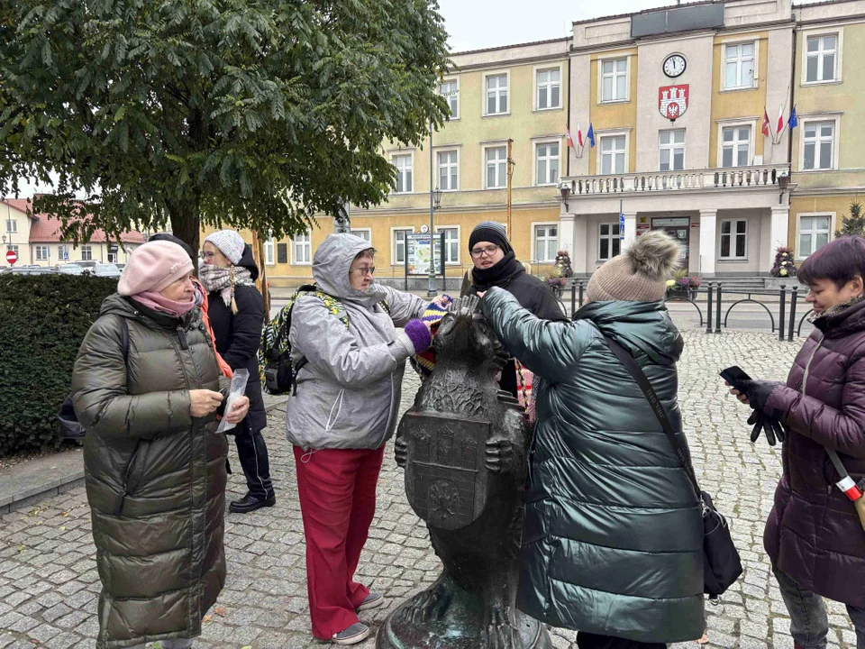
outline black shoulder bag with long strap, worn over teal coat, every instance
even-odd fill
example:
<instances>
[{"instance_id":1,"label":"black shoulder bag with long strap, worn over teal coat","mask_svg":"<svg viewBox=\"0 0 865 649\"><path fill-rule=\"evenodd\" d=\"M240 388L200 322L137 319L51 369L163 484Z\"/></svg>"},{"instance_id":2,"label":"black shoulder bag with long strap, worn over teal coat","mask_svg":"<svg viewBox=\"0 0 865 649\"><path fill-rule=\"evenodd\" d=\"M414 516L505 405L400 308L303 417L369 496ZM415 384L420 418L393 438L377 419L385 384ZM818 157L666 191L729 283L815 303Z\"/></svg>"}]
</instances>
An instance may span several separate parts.
<instances>
[{"instance_id":1,"label":"black shoulder bag with long strap, worn over teal coat","mask_svg":"<svg viewBox=\"0 0 865 649\"><path fill-rule=\"evenodd\" d=\"M604 339L610 351L615 354L615 357L631 373L637 385L642 389L642 393L649 401L655 416L658 417L673 451L676 452L679 462L685 468L688 480L691 481L694 491L697 493L703 512L703 591L709 596L709 599L716 600L718 595L730 588L742 575L742 559L739 557L735 544L733 544L730 527L727 526L724 516L721 516L715 509L712 497L700 489L690 458L685 448L676 439L667 413L637 361L634 361L633 356L626 352L622 345L606 336Z\"/></svg>"}]
</instances>

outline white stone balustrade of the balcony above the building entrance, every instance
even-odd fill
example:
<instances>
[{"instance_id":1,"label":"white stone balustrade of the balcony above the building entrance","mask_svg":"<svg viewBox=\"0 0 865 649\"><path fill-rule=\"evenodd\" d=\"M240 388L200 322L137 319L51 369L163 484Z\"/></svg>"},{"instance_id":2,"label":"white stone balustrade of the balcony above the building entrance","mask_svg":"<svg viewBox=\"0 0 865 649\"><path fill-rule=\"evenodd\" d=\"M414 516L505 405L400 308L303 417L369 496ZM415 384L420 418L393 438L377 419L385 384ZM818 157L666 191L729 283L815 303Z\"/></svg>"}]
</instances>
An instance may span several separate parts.
<instances>
[{"instance_id":1,"label":"white stone balustrade of the balcony above the building entrance","mask_svg":"<svg viewBox=\"0 0 865 649\"><path fill-rule=\"evenodd\" d=\"M760 165L758 167L735 167L732 169L694 169L612 174L609 176L577 176L562 178L562 184L570 183L571 196L770 187L778 184L778 177L784 172L789 173L788 166Z\"/></svg>"}]
</instances>

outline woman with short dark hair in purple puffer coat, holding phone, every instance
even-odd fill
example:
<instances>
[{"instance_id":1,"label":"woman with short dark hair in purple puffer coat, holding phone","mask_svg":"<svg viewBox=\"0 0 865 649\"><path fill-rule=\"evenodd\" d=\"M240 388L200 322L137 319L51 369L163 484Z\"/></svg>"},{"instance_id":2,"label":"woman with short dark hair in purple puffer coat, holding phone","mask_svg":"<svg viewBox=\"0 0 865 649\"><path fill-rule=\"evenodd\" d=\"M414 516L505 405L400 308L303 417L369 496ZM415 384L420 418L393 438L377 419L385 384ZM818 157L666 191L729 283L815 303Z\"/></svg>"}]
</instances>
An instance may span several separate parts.
<instances>
[{"instance_id":1,"label":"woman with short dark hair in purple puffer coat, holding phone","mask_svg":"<svg viewBox=\"0 0 865 649\"><path fill-rule=\"evenodd\" d=\"M787 384L753 380L733 390L787 429L763 544L803 649L826 646L821 596L847 605L865 649L865 529L850 499L865 475L863 278L863 237L841 237L808 257L799 279L810 288L815 330Z\"/></svg>"}]
</instances>

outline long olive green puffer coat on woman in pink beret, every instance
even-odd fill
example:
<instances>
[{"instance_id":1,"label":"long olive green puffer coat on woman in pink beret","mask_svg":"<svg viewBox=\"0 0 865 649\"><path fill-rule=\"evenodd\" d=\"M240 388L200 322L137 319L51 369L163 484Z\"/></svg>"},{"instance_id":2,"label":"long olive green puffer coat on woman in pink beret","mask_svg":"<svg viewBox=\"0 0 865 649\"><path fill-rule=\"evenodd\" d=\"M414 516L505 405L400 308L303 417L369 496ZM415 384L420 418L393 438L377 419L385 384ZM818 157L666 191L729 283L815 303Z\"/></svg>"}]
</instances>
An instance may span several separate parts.
<instances>
[{"instance_id":1,"label":"long olive green puffer coat on woman in pink beret","mask_svg":"<svg viewBox=\"0 0 865 649\"><path fill-rule=\"evenodd\" d=\"M129 356L123 362L123 324ZM228 443L189 390L220 390L198 309L172 318L107 297L72 374L102 580L98 649L201 633L225 581Z\"/></svg>"}]
</instances>

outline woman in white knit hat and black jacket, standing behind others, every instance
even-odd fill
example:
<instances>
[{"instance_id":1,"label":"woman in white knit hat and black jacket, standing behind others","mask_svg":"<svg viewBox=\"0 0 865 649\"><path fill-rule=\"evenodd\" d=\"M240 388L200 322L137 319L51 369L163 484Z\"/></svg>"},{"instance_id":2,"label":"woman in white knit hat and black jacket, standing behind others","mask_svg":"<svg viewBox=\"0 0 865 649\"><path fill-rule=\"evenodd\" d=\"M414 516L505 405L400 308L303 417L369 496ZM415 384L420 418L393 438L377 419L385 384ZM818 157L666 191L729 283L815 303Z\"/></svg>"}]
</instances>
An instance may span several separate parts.
<instances>
[{"instance_id":1,"label":"woman in white knit hat and black jacket, standing behind others","mask_svg":"<svg viewBox=\"0 0 865 649\"><path fill-rule=\"evenodd\" d=\"M232 370L250 372L246 387L250 414L234 428L234 443L249 492L232 501L229 511L245 513L273 507L277 498L270 481L268 447L261 435L268 421L256 360L265 315L264 300L255 288L259 269L252 260L252 249L233 230L208 235L203 251L204 265L198 274L209 293L208 315L214 327L216 351Z\"/></svg>"}]
</instances>

